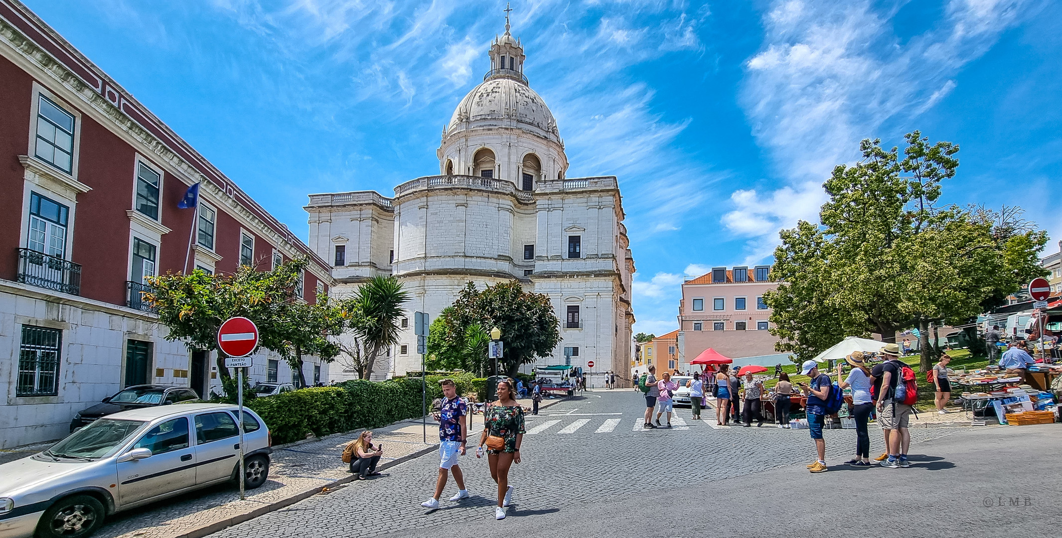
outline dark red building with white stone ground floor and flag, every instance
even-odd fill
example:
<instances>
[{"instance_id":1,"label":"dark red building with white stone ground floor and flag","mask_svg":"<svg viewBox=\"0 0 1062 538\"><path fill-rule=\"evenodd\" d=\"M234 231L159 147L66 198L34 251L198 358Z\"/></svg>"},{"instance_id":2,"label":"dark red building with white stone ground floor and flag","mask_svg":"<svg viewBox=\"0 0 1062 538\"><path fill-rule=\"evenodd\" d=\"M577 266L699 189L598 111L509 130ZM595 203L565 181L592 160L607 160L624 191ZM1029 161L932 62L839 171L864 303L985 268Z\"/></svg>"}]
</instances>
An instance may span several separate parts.
<instances>
[{"instance_id":1,"label":"dark red building with white stone ground floor and flag","mask_svg":"<svg viewBox=\"0 0 1062 538\"><path fill-rule=\"evenodd\" d=\"M306 256L305 299L331 282L324 260L15 0L0 0L0 394L14 410L0 448L61 436L130 384L217 389L209 358L162 339L144 277ZM179 209L194 184L200 207ZM284 378L278 362L252 376Z\"/></svg>"}]
</instances>

